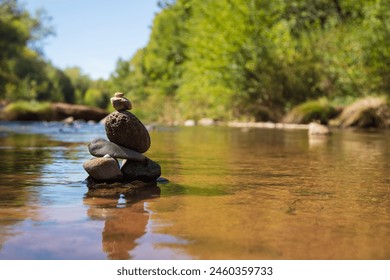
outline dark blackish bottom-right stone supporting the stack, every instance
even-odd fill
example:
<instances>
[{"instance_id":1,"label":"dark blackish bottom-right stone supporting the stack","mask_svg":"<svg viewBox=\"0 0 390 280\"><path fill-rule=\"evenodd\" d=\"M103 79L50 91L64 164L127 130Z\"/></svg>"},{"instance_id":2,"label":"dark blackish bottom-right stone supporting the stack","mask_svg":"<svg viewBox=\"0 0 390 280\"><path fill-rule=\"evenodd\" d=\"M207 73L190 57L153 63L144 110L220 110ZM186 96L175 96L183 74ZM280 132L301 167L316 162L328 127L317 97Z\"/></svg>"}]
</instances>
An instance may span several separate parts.
<instances>
[{"instance_id":1,"label":"dark blackish bottom-right stone supporting the stack","mask_svg":"<svg viewBox=\"0 0 390 280\"><path fill-rule=\"evenodd\" d=\"M160 165L149 158L146 163L127 160L121 170L129 180L155 181L161 176Z\"/></svg>"}]
</instances>

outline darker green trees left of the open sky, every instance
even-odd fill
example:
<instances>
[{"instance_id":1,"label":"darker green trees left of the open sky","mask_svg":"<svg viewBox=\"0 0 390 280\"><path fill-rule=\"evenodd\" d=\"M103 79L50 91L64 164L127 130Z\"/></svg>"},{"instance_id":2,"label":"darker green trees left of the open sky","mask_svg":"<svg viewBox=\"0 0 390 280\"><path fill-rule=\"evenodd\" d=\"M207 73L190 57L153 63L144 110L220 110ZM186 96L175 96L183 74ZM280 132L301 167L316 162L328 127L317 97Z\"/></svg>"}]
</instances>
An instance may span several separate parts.
<instances>
[{"instance_id":1,"label":"darker green trees left of the open sky","mask_svg":"<svg viewBox=\"0 0 390 280\"><path fill-rule=\"evenodd\" d=\"M53 34L43 10L32 16L16 0L0 1L0 99L74 103L75 86L42 57L41 41Z\"/></svg>"}]
</instances>

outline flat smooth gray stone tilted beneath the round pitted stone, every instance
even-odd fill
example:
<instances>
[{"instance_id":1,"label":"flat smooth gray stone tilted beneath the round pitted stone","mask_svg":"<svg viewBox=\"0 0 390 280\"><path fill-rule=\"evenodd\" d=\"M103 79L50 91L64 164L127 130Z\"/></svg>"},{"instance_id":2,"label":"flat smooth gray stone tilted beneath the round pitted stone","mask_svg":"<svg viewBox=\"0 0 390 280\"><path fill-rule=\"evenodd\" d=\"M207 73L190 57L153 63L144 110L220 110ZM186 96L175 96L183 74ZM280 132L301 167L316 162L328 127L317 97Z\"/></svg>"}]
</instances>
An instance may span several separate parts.
<instances>
[{"instance_id":1,"label":"flat smooth gray stone tilted beneath the round pitted stone","mask_svg":"<svg viewBox=\"0 0 390 280\"><path fill-rule=\"evenodd\" d=\"M146 160L146 157L143 154L102 138L93 139L91 143L89 143L88 149L91 155L95 157L103 157L108 154L113 158L129 159L141 162Z\"/></svg>"}]
</instances>

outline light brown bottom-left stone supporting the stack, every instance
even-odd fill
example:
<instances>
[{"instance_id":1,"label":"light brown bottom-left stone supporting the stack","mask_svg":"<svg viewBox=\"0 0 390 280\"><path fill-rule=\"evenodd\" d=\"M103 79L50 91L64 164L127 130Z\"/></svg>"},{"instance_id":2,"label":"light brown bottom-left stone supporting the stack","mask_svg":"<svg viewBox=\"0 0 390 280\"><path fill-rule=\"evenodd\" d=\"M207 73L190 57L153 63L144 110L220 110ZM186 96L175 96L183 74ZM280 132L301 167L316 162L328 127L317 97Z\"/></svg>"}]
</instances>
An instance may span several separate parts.
<instances>
[{"instance_id":1,"label":"light brown bottom-left stone supporting the stack","mask_svg":"<svg viewBox=\"0 0 390 280\"><path fill-rule=\"evenodd\" d=\"M90 159L83 167L89 176L96 180L110 181L123 178L118 162L110 156Z\"/></svg>"}]
</instances>

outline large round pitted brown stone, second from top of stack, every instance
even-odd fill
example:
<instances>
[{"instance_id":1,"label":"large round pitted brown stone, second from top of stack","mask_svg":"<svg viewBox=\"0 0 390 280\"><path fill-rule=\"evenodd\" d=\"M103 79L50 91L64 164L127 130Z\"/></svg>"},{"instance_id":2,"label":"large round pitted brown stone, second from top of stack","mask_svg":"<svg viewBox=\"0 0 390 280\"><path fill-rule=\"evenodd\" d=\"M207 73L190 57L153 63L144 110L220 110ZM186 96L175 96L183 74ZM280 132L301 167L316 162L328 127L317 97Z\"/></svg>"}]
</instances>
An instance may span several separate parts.
<instances>
[{"instance_id":1,"label":"large round pitted brown stone, second from top of stack","mask_svg":"<svg viewBox=\"0 0 390 280\"><path fill-rule=\"evenodd\" d=\"M139 153L150 147L150 136L142 122L128 111L117 111L108 115L105 123L108 139L120 146Z\"/></svg>"}]
</instances>

